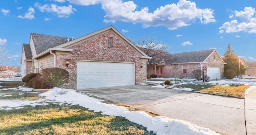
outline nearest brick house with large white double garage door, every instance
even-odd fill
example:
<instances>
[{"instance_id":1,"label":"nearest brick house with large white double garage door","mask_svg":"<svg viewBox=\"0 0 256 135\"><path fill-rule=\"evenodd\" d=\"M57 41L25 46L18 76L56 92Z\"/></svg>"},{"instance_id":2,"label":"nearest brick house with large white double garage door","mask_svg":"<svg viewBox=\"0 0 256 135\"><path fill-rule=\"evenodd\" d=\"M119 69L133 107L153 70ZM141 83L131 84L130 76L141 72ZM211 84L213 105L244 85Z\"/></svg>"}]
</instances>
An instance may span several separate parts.
<instances>
[{"instance_id":1,"label":"nearest brick house with large white double garage door","mask_svg":"<svg viewBox=\"0 0 256 135\"><path fill-rule=\"evenodd\" d=\"M70 78L62 87L80 90L146 83L148 59L108 26L77 39L31 33L29 44L23 44L21 63L23 75L50 67L66 69Z\"/></svg>"}]
</instances>

